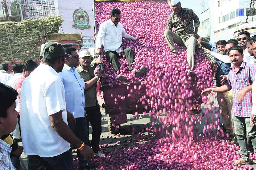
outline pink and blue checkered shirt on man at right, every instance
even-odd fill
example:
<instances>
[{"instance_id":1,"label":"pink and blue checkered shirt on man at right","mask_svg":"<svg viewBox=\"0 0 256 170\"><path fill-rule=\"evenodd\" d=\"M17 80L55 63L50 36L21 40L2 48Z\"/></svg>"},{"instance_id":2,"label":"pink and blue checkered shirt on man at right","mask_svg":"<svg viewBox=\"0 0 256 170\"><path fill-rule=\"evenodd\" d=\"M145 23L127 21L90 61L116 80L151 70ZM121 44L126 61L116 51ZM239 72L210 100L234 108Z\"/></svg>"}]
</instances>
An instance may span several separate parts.
<instances>
[{"instance_id":1,"label":"pink and blue checkered shirt on man at right","mask_svg":"<svg viewBox=\"0 0 256 170\"><path fill-rule=\"evenodd\" d=\"M232 113L238 117L250 117L252 111L252 92L247 92L241 102L237 102L237 93L249 86L256 76L256 66L243 61L237 73L233 66L229 72L227 87L233 89L233 108Z\"/></svg>"}]
</instances>

